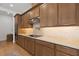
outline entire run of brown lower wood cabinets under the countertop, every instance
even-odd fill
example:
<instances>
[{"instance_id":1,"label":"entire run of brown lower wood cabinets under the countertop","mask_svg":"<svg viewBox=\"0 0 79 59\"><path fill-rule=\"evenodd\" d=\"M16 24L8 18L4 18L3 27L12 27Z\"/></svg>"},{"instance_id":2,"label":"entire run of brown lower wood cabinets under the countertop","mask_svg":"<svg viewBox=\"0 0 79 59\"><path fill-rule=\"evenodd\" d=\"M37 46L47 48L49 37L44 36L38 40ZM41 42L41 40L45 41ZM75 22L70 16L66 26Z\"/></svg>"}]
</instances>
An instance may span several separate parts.
<instances>
[{"instance_id":1,"label":"entire run of brown lower wood cabinets under the countertop","mask_svg":"<svg viewBox=\"0 0 79 59\"><path fill-rule=\"evenodd\" d=\"M16 43L34 56L79 56L79 50L18 35Z\"/></svg>"}]
</instances>

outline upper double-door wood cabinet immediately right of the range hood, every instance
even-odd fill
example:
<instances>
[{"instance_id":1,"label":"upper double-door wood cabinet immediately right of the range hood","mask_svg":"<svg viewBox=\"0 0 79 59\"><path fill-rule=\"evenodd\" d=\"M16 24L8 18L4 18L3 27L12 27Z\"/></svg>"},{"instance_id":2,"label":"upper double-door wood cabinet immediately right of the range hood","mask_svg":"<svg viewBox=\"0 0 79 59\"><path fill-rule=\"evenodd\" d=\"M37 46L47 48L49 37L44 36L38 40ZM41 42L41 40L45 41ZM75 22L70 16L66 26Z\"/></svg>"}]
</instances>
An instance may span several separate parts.
<instances>
[{"instance_id":1,"label":"upper double-door wood cabinet immediately right of the range hood","mask_svg":"<svg viewBox=\"0 0 79 59\"><path fill-rule=\"evenodd\" d=\"M57 4L43 4L40 6L41 27L52 27L57 25Z\"/></svg>"}]
</instances>

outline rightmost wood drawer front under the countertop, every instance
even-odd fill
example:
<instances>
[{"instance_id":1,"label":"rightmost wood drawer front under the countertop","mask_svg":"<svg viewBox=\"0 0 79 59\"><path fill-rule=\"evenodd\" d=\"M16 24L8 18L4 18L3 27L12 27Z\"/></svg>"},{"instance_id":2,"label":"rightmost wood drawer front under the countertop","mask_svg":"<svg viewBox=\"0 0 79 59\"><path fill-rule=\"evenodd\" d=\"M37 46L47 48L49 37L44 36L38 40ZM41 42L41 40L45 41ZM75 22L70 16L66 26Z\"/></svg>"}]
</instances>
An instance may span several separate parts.
<instances>
[{"instance_id":1,"label":"rightmost wood drawer front under the countertop","mask_svg":"<svg viewBox=\"0 0 79 59\"><path fill-rule=\"evenodd\" d=\"M69 55L78 55L78 50L70 48L70 47L66 47L66 46L62 46L62 45L56 45L56 50L58 51L62 51L64 53L67 53Z\"/></svg>"}]
</instances>

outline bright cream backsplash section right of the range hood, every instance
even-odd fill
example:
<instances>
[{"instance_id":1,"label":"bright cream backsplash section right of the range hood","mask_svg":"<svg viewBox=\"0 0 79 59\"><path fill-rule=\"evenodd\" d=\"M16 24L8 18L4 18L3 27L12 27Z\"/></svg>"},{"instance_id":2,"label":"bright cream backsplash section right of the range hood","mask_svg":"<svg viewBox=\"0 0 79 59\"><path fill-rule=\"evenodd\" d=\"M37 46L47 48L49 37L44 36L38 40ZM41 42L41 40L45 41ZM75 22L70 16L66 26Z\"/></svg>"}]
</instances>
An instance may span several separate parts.
<instances>
[{"instance_id":1,"label":"bright cream backsplash section right of the range hood","mask_svg":"<svg viewBox=\"0 0 79 59\"><path fill-rule=\"evenodd\" d=\"M65 39L79 39L79 26L42 28L44 36L62 37Z\"/></svg>"}]
</instances>

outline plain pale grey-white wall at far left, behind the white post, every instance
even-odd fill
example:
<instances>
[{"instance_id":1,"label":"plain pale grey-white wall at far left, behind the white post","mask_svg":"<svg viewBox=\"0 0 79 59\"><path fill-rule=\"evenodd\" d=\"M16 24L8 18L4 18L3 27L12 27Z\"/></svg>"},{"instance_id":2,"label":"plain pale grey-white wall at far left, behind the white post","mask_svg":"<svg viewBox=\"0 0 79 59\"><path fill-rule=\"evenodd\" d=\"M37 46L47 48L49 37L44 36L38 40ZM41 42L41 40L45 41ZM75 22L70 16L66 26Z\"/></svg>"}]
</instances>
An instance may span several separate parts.
<instances>
[{"instance_id":1,"label":"plain pale grey-white wall at far left, behind the white post","mask_svg":"<svg viewBox=\"0 0 79 59\"><path fill-rule=\"evenodd\" d=\"M6 40L6 35L13 32L13 20L11 16L0 15L0 41Z\"/></svg>"}]
</instances>

